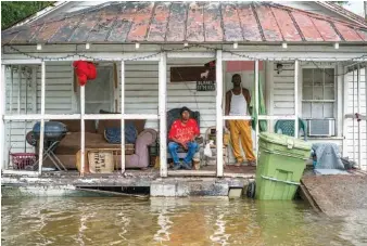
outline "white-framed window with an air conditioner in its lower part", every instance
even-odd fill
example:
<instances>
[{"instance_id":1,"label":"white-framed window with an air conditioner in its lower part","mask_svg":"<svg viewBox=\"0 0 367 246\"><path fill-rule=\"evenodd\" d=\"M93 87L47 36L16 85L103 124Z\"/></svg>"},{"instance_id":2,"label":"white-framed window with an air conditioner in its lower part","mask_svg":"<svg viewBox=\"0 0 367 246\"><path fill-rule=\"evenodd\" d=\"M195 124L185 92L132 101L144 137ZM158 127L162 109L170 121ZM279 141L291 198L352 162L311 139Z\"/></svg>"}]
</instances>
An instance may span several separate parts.
<instances>
[{"instance_id":1,"label":"white-framed window with an air conditioner in its lower part","mask_svg":"<svg viewBox=\"0 0 367 246\"><path fill-rule=\"evenodd\" d=\"M302 118L308 122L308 135L334 135L334 69L303 68L302 81ZM320 130L322 124L327 129Z\"/></svg>"}]
</instances>

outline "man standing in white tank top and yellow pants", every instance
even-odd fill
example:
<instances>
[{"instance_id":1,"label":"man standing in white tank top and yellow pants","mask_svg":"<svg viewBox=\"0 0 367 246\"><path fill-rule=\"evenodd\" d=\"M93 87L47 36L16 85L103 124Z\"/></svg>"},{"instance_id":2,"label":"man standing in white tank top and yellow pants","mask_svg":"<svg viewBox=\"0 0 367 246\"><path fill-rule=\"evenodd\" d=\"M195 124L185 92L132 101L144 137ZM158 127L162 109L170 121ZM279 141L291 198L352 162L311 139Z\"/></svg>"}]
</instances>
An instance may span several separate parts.
<instances>
[{"instance_id":1,"label":"man standing in white tank top and yellow pants","mask_svg":"<svg viewBox=\"0 0 367 246\"><path fill-rule=\"evenodd\" d=\"M232 76L233 89L226 93L226 115L245 116L249 114L249 106L251 102L250 92L248 89L241 87L241 76L236 74ZM227 120L226 127L230 131L230 139L233 148L233 154L237 159L235 166L239 167L243 163L243 157L240 150L240 138L242 148L246 157L248 164L255 166L256 158L252 150L252 133L251 120Z\"/></svg>"}]
</instances>

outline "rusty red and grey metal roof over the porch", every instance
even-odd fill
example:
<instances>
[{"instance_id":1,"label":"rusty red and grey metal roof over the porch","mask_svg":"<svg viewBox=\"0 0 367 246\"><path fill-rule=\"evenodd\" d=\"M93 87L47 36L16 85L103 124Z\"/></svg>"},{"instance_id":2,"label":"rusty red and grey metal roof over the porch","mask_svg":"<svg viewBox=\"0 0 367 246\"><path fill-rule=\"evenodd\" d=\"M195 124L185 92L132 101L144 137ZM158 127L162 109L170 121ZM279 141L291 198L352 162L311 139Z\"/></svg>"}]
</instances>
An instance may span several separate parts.
<instances>
[{"instance_id":1,"label":"rusty red and grey metal roof over the porch","mask_svg":"<svg viewBox=\"0 0 367 246\"><path fill-rule=\"evenodd\" d=\"M365 25L270 2L110 2L1 33L2 44L366 42Z\"/></svg>"}]
</instances>

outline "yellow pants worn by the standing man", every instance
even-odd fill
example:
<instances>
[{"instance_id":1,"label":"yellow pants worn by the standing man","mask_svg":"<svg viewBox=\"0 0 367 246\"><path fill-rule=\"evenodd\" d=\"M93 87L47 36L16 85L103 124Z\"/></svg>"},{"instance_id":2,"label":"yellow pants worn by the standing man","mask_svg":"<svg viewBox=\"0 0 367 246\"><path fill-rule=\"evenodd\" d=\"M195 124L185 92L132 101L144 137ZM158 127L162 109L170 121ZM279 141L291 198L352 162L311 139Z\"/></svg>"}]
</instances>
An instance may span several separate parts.
<instances>
[{"instance_id":1,"label":"yellow pants worn by the standing man","mask_svg":"<svg viewBox=\"0 0 367 246\"><path fill-rule=\"evenodd\" d=\"M243 161L240 150L240 139L242 148L248 161L256 159L252 150L252 133L250 120L229 120L230 142L233 148L233 155L238 163Z\"/></svg>"}]
</instances>

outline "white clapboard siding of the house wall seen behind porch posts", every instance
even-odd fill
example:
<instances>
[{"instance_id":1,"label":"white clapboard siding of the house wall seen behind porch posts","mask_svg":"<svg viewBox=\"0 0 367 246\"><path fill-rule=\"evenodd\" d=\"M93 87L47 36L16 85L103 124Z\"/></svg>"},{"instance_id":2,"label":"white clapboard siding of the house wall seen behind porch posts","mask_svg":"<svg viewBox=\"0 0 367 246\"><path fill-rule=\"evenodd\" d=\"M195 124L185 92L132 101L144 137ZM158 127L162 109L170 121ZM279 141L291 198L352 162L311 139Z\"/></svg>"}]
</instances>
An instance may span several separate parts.
<instances>
[{"instance_id":1,"label":"white clapboard siding of the house wall seen behind porch posts","mask_svg":"<svg viewBox=\"0 0 367 246\"><path fill-rule=\"evenodd\" d=\"M206 61L208 62L208 61ZM195 90L195 82L170 82L169 70L172 66L202 66L205 62L200 61L198 63L185 63L185 64L170 64L167 65L167 109L188 106L192 111L199 111L201 113L201 133L204 134L205 130L215 126L215 91L208 92L198 92ZM282 63L283 70L278 75L276 69L276 64L274 64L274 90L273 98L274 103L273 112L274 115L282 114L294 114L294 67L292 63ZM37 67L37 96L34 96L33 93L28 93L28 113L34 112L36 108L33 108L34 99L37 98L37 113L40 112L40 67ZM157 114L159 107L159 64L152 62L135 62L126 63L126 91L125 91L125 112L127 114ZM119 65L117 64L118 75ZM243 87L246 87L252 91L253 87L253 72L242 72ZM225 90L230 89L230 77L232 74L225 74ZM261 72L261 78L263 79L263 85L265 85L265 72ZM347 77L349 81L349 112L353 113L353 76L350 74ZM118 83L121 82L121 77L118 76ZM365 103L365 72L363 72L362 78L362 114L366 114L366 103ZM14 83L13 83L13 113L16 114L17 108L17 74L14 74ZM24 79L22 80L25 81ZM74 73L71 62L60 62L60 63L47 63L46 64L46 113L47 114L71 114L77 113L76 98L77 93L74 93L73 88ZM356 81L356 76L355 76ZM7 74L7 112L9 113L9 103L10 103L10 73ZM29 90L35 90L30 85ZM87 83L88 86L88 83ZM300 88L302 82L300 82ZM25 94L24 86L22 86L22 95ZM119 91L119 88L118 88ZM301 91L300 91L301 93ZM356 93L356 82L355 82L355 93ZM340 100L340 99L339 99ZM300 98L301 101L301 98ZM23 101L24 96L23 96ZM24 106L22 107L22 113L24 113ZM118 112L119 112L119 102L118 102ZM355 112L356 112L356 94L355 94ZM24 122L8 122L7 124L7 138L9 140L9 133L12 133L12 152L24 152L24 141L25 132L29 131L35 122L28 122L26 131L24 130ZM353 152L353 127L352 121L347 122L347 146L349 154L352 157ZM365 122L362 122L363 128L363 158L366 164L366 127ZM357 124L355 124L357 126ZM157 120L148 120L147 128L159 129ZM10 131L10 128L12 129ZM355 137L357 139L357 127L354 128ZM311 140L312 142L313 140ZM316 141L316 140L315 140ZM341 145L341 140L322 140L322 141L333 141L338 145ZM9 145L10 146L10 145ZM28 147L27 151L30 151ZM356 150L357 151L357 150ZM231 158L232 160L232 158Z\"/></svg>"}]
</instances>

